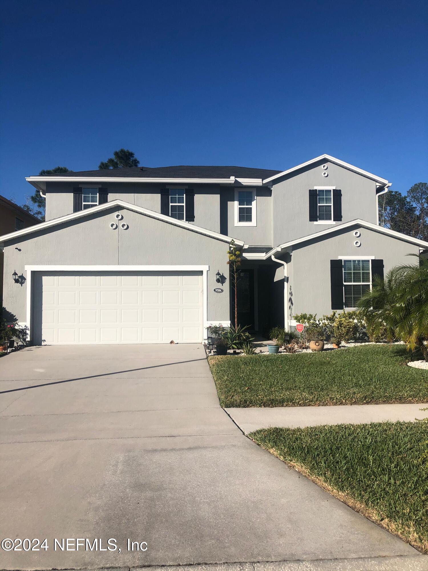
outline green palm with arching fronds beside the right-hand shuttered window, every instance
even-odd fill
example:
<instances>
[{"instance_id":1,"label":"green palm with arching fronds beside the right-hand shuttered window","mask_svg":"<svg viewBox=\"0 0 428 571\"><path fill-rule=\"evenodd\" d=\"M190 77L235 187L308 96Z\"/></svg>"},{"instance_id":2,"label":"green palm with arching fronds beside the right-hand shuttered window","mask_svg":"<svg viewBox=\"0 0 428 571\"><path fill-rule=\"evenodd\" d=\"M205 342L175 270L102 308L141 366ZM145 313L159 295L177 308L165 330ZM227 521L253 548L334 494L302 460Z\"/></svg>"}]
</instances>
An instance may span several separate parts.
<instances>
[{"instance_id":1,"label":"green palm with arching fronds beside the right-hand shuttered window","mask_svg":"<svg viewBox=\"0 0 428 571\"><path fill-rule=\"evenodd\" d=\"M402 339L409 351L418 347L428 361L428 260L410 255L418 263L392 268L385 280L375 276L358 308L374 335L386 330L388 341Z\"/></svg>"}]
</instances>

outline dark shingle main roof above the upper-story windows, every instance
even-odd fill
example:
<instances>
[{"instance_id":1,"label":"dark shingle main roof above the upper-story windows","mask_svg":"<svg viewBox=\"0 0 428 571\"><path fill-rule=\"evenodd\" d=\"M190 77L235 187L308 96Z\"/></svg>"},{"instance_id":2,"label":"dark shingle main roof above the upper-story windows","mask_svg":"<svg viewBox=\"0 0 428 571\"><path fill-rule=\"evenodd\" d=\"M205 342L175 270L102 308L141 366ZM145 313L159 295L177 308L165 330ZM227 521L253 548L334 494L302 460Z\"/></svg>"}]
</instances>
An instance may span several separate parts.
<instances>
[{"instance_id":1,"label":"dark shingle main roof above the upper-story windows","mask_svg":"<svg viewBox=\"0 0 428 571\"><path fill-rule=\"evenodd\" d=\"M68 176L118 176L118 177L135 177L135 178L269 178L282 171L273 171L267 168L248 168L248 167L208 167L208 166L184 166L175 167L132 167L132 168L111 168L96 171L79 171L79 172L58 172L49 176L60 176L67 178Z\"/></svg>"}]
</instances>

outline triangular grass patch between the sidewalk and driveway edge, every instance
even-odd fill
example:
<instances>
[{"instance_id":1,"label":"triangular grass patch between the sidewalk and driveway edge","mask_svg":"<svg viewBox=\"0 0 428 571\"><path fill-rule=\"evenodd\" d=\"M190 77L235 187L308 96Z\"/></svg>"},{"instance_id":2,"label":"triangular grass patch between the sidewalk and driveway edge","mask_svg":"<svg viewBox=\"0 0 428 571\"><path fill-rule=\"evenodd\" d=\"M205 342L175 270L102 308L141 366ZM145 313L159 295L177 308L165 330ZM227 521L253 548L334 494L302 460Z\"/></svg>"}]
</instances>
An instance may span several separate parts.
<instances>
[{"instance_id":1,"label":"triangular grass patch between the sidewalk and driveway edge","mask_svg":"<svg viewBox=\"0 0 428 571\"><path fill-rule=\"evenodd\" d=\"M249 437L428 553L428 423L268 428Z\"/></svg>"}]
</instances>

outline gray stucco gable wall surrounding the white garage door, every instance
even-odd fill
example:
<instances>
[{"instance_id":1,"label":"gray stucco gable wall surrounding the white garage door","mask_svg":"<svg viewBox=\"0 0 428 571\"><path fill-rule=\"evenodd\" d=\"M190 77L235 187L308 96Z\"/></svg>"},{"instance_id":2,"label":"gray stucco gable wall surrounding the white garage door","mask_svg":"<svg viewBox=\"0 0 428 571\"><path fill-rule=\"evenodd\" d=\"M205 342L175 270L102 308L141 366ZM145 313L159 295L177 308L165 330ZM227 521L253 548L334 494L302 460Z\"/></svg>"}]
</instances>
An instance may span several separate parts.
<instances>
[{"instance_id":1,"label":"gray stucco gable wall surrounding the white garage door","mask_svg":"<svg viewBox=\"0 0 428 571\"><path fill-rule=\"evenodd\" d=\"M128 224L127 230L120 226L111 230L109 226L117 222L114 215L118 211L123 214L120 222ZM5 244L5 276L14 271L26 275L25 266L47 264L208 265L207 320L230 319L228 281L223 293L213 291L219 285L216 272L229 275L227 243L126 208L112 207ZM12 279L5 280L3 305L21 322L26 322L26 295L26 283L21 287Z\"/></svg>"}]
</instances>

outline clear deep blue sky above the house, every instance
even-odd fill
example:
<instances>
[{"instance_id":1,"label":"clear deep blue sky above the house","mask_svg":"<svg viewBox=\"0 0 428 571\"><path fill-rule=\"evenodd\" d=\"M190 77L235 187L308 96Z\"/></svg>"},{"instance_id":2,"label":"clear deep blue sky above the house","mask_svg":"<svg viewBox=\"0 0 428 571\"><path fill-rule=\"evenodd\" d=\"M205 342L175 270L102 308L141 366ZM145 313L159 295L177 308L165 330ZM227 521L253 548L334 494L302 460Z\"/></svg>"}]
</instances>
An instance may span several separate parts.
<instances>
[{"instance_id":1,"label":"clear deep blue sky above the house","mask_svg":"<svg viewBox=\"0 0 428 571\"><path fill-rule=\"evenodd\" d=\"M410 7L411 6L411 9ZM426 3L3 2L0 194L42 168L285 169L426 182Z\"/></svg>"}]
</instances>

